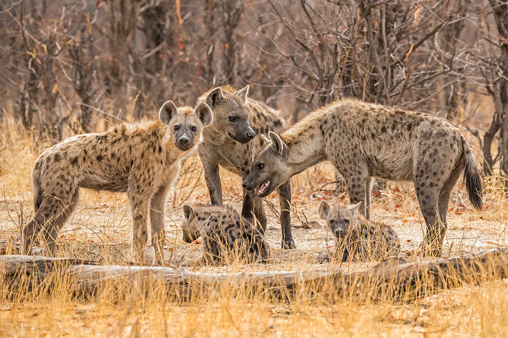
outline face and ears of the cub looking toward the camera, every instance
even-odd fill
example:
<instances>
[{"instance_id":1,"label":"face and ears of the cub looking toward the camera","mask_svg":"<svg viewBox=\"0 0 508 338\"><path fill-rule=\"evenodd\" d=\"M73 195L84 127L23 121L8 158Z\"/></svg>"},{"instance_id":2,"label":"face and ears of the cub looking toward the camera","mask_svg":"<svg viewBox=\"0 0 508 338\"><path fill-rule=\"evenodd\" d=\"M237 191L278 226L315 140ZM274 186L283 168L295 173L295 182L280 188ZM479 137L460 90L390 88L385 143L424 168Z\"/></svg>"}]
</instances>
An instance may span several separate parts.
<instances>
[{"instance_id":1,"label":"face and ears of the cub looking toward the camera","mask_svg":"<svg viewBox=\"0 0 508 338\"><path fill-rule=\"evenodd\" d=\"M358 239L358 210L362 202L351 206L331 207L322 201L317 209L319 216L326 220L330 231L341 243L344 239Z\"/></svg>"}]
</instances>

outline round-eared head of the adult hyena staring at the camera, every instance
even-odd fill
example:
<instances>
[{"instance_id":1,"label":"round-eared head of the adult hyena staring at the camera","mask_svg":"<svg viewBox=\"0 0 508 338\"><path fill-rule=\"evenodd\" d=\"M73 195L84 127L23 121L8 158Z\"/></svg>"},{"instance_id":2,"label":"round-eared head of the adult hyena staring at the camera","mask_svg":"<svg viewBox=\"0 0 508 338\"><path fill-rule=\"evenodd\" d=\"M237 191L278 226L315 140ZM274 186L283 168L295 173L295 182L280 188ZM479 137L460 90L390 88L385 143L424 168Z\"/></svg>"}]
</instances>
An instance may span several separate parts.
<instances>
[{"instance_id":1,"label":"round-eared head of the adult hyena staring at the camera","mask_svg":"<svg viewBox=\"0 0 508 338\"><path fill-rule=\"evenodd\" d=\"M168 101L161 107L159 119L169 126L175 146L186 151L201 140L201 132L212 123L213 115L204 102L194 110L190 107L180 107L178 110L173 101Z\"/></svg>"}]
</instances>

